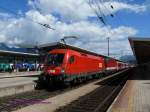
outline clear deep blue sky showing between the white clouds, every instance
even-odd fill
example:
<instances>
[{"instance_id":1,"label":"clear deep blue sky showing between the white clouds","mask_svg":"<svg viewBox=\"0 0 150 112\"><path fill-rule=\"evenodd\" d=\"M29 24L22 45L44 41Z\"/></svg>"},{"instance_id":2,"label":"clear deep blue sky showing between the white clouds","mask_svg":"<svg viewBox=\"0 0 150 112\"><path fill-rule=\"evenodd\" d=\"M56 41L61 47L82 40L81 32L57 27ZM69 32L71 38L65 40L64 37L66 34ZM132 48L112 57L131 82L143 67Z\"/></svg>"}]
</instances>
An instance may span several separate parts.
<instances>
[{"instance_id":1,"label":"clear deep blue sky showing between the white clouds","mask_svg":"<svg viewBox=\"0 0 150 112\"><path fill-rule=\"evenodd\" d=\"M145 3L144 0L122 0L122 1L130 4L139 4L139 5ZM16 13L22 11L23 14L25 14L25 12L31 9L31 6L28 5L28 0L0 0L0 7L1 6L10 9ZM2 8L0 8L0 12L10 13ZM53 14L53 15L57 15L57 14ZM146 11L141 14L136 14L127 11L119 11L114 15L115 15L114 18L107 17L108 24L110 24L112 27L117 27L120 25L132 26L139 30L136 36L149 37L150 11Z\"/></svg>"}]
</instances>

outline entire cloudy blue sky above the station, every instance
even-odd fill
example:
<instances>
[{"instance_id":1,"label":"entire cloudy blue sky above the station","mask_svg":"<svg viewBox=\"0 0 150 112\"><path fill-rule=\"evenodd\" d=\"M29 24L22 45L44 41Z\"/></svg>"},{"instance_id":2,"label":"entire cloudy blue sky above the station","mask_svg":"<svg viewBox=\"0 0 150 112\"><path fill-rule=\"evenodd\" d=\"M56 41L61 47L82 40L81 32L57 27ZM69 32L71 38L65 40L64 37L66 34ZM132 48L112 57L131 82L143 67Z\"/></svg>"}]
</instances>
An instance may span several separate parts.
<instances>
[{"instance_id":1,"label":"entire cloudy blue sky above the station","mask_svg":"<svg viewBox=\"0 0 150 112\"><path fill-rule=\"evenodd\" d=\"M0 42L43 44L58 42L64 36L77 36L78 39L69 39L67 43L107 55L110 37L110 55L119 57L132 54L128 37L149 37L150 0L90 3L92 8L89 0L0 0ZM55 30L38 23L49 24Z\"/></svg>"}]
</instances>

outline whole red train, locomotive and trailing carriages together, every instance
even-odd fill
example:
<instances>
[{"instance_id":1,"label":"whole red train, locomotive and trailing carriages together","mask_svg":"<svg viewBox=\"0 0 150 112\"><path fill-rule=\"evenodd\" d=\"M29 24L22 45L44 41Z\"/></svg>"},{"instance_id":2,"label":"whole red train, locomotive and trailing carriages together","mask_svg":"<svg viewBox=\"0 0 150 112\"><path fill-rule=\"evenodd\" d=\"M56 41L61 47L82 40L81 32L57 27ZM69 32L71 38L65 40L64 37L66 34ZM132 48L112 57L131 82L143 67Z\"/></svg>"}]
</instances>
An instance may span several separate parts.
<instances>
[{"instance_id":1,"label":"whole red train, locomotive and trailing carriages together","mask_svg":"<svg viewBox=\"0 0 150 112\"><path fill-rule=\"evenodd\" d=\"M39 84L74 84L129 67L128 63L86 50L55 48L47 53Z\"/></svg>"}]
</instances>

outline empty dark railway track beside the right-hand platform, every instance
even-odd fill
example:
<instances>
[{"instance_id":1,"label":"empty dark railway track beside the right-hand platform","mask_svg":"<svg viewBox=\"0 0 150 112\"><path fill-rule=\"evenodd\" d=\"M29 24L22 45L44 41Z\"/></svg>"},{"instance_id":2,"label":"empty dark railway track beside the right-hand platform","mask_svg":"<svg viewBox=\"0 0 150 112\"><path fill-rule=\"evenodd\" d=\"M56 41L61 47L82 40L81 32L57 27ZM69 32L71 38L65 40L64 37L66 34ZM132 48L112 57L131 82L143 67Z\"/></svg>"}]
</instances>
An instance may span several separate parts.
<instances>
[{"instance_id":1,"label":"empty dark railway track beside the right-hand platform","mask_svg":"<svg viewBox=\"0 0 150 112\"><path fill-rule=\"evenodd\" d=\"M119 77L104 80L95 91L73 101L56 112L105 112L113 102L128 78L127 73Z\"/></svg>"}]
</instances>

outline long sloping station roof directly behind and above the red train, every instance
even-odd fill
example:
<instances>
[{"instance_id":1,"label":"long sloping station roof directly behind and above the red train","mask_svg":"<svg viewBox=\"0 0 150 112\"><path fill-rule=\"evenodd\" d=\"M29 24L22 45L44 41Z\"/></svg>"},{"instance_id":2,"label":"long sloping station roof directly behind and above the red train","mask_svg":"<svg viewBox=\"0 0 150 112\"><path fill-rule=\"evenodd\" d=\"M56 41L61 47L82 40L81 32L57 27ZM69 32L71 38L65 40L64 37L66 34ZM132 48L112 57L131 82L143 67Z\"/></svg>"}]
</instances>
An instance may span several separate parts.
<instances>
[{"instance_id":1,"label":"long sloping station roof directly behind and above the red train","mask_svg":"<svg viewBox=\"0 0 150 112\"><path fill-rule=\"evenodd\" d=\"M42 44L42 45L39 45L38 48L41 51L46 51L46 52L48 52L50 50L53 50L53 49L56 49L56 48L58 48L58 49L69 48L69 49L72 49L72 50L75 50L75 51L78 51L78 52L89 53L89 54L92 54L92 55L95 55L95 56L102 56L104 58L111 58L111 57L101 55L101 54L98 54L98 53L95 53L95 52L92 52L92 51L89 51L89 50L82 49L80 47L72 46L72 45L69 45L69 44L64 44L62 42ZM117 60L117 59L115 59L115 60ZM118 61L120 61L120 60L118 60Z\"/></svg>"}]
</instances>

